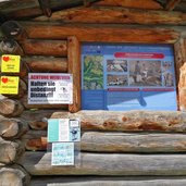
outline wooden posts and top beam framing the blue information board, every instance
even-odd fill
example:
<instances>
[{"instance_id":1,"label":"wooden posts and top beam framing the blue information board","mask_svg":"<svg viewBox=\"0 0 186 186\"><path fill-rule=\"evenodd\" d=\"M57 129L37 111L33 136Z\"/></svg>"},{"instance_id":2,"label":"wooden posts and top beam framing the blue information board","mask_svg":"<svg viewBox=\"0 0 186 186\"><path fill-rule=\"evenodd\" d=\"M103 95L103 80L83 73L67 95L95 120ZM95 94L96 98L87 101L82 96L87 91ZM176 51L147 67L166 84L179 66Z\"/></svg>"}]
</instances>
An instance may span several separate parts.
<instances>
[{"instance_id":1,"label":"wooden posts and top beam framing the blue information board","mask_svg":"<svg viewBox=\"0 0 186 186\"><path fill-rule=\"evenodd\" d=\"M185 57L185 41L181 37L181 32L168 28L136 28L136 27L77 27L73 36L67 37L67 72L73 78L73 103L69 104L69 111L74 113L80 110L80 84L82 84L82 42L119 42L119 44L151 44L173 45L175 58L175 77L179 82L179 67L183 65ZM177 89L177 108L179 110L179 87Z\"/></svg>"}]
</instances>

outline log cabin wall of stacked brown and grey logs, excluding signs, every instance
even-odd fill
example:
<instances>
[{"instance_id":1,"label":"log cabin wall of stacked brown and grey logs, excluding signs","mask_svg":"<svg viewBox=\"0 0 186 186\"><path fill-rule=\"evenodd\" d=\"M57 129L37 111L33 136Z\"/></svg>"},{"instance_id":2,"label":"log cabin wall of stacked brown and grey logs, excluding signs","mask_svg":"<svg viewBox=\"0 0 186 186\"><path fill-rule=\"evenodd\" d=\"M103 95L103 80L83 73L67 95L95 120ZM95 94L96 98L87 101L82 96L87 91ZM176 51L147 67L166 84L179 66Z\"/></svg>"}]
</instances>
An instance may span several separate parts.
<instances>
[{"instance_id":1,"label":"log cabin wall of stacked brown and grey logs, excluding signs","mask_svg":"<svg viewBox=\"0 0 186 186\"><path fill-rule=\"evenodd\" d=\"M129 1L107 0L29 22L18 21L16 14L17 21L3 23L1 53L20 54L22 71L16 74L18 95L0 100L2 186L186 185L186 15L164 12L154 1L142 2L134 7ZM80 111L82 41L174 45L179 111ZM29 72L72 73L74 103L28 104ZM47 152L50 117L80 119L78 166L51 165Z\"/></svg>"}]
</instances>

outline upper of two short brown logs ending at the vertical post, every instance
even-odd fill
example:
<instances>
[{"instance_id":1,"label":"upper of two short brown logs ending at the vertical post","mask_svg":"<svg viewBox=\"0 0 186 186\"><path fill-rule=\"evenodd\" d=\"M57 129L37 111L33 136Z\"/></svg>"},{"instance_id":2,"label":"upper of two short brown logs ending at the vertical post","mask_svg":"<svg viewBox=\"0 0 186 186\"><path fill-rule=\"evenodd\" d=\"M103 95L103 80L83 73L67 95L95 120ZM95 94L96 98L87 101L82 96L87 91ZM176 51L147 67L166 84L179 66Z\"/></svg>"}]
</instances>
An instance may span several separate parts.
<instances>
[{"instance_id":1,"label":"upper of two short brown logs ending at the vertical post","mask_svg":"<svg viewBox=\"0 0 186 186\"><path fill-rule=\"evenodd\" d=\"M20 40L26 54L66 57L67 46L65 40Z\"/></svg>"}]
</instances>

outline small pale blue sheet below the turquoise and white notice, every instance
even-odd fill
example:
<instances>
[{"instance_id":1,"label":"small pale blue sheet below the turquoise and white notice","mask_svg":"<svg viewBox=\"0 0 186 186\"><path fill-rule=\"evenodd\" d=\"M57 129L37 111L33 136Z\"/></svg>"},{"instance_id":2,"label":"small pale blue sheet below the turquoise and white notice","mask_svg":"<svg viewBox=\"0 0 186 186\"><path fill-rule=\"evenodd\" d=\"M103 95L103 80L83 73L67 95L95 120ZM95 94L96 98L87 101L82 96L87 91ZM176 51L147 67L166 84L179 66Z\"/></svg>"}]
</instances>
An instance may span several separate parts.
<instances>
[{"instance_id":1,"label":"small pale blue sheet below the turquoise and white notice","mask_svg":"<svg viewBox=\"0 0 186 186\"><path fill-rule=\"evenodd\" d=\"M74 142L53 142L51 165L74 165Z\"/></svg>"}]
</instances>

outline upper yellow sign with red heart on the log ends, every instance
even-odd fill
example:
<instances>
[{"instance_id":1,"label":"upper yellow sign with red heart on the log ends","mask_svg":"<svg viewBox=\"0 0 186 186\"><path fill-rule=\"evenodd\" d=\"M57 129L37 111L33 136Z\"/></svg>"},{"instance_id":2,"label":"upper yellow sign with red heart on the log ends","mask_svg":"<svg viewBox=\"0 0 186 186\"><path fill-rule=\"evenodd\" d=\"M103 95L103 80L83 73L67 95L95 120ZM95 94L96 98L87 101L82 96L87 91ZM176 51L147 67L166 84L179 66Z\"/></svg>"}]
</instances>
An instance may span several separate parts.
<instances>
[{"instance_id":1,"label":"upper yellow sign with red heart on the log ends","mask_svg":"<svg viewBox=\"0 0 186 186\"><path fill-rule=\"evenodd\" d=\"M3 54L1 57L1 72L18 73L20 72L20 55Z\"/></svg>"}]
</instances>

